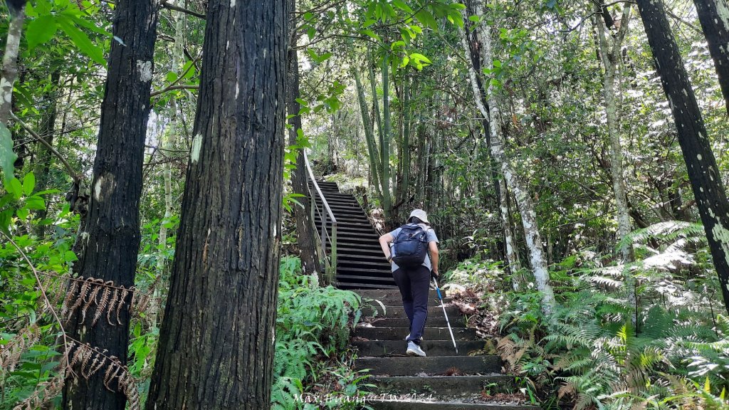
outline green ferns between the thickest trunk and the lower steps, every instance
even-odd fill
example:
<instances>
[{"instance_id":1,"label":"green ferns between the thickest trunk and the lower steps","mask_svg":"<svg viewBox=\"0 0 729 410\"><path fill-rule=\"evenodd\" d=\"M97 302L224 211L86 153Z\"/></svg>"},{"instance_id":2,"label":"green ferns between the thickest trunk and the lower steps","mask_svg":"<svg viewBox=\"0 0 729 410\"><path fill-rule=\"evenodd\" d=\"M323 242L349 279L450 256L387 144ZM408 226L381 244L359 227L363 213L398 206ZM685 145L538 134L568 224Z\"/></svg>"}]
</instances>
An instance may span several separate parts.
<instances>
[{"instance_id":1,"label":"green ferns between the thickest trunk and the lower steps","mask_svg":"<svg viewBox=\"0 0 729 410\"><path fill-rule=\"evenodd\" d=\"M349 333L359 320L359 295L320 287L301 274L298 258L281 259L276 319L273 409L318 409L301 395L356 397L364 376L351 371ZM330 401L326 408L354 409L354 402Z\"/></svg>"}]
</instances>

